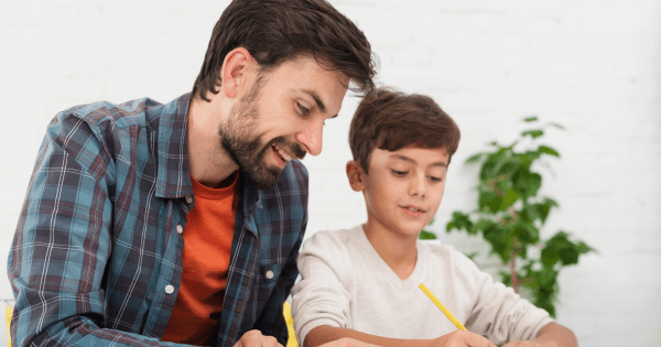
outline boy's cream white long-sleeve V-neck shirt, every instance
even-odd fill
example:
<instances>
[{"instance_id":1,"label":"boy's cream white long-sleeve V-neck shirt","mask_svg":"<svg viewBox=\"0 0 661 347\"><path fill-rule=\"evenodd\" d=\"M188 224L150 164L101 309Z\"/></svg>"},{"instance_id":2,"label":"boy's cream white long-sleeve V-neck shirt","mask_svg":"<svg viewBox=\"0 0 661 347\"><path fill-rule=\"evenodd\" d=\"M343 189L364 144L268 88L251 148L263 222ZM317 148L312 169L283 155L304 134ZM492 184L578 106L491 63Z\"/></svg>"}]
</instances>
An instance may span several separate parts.
<instances>
[{"instance_id":1,"label":"boy's cream white long-sleeve V-neck shirt","mask_svg":"<svg viewBox=\"0 0 661 347\"><path fill-rule=\"evenodd\" d=\"M413 273L400 278L373 249L361 226L319 231L299 256L302 280L292 290L292 316L303 344L313 328L345 327L390 338L436 338L456 329L418 288L424 283L466 328L494 343L533 339L553 322L546 311L451 246L418 242Z\"/></svg>"}]
</instances>

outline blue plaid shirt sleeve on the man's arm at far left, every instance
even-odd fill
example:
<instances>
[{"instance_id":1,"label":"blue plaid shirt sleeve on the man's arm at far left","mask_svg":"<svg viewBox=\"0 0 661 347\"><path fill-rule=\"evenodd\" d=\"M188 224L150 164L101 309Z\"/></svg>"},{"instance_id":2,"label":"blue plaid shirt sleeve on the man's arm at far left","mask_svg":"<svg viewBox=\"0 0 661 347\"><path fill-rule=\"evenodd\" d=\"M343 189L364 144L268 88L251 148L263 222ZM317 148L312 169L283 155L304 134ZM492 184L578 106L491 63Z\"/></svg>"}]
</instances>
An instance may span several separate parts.
<instances>
[{"instance_id":1,"label":"blue plaid shirt sleeve on the man's arm at far left","mask_svg":"<svg viewBox=\"0 0 661 347\"><path fill-rule=\"evenodd\" d=\"M105 326L115 165L100 139L73 113L47 128L8 261L14 346L177 346Z\"/></svg>"}]
</instances>

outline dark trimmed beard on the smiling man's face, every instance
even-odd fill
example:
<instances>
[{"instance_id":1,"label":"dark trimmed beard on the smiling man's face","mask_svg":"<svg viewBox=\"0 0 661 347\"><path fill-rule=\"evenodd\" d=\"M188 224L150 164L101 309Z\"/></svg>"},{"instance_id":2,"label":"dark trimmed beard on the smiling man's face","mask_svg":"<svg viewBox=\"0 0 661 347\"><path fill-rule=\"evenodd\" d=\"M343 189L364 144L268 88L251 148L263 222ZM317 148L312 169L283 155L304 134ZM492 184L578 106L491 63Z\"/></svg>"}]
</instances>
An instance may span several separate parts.
<instances>
[{"instance_id":1,"label":"dark trimmed beard on the smiling man's face","mask_svg":"<svg viewBox=\"0 0 661 347\"><path fill-rule=\"evenodd\" d=\"M278 137L262 144L261 134L254 134L259 123L259 107L257 96L260 82L250 93L229 110L227 121L220 124L220 144L229 153L231 160L248 176L256 189L269 191L275 187L282 173L278 165L267 166L266 154L273 145L286 149L294 158L303 159L305 151L297 143L290 143L283 137Z\"/></svg>"}]
</instances>

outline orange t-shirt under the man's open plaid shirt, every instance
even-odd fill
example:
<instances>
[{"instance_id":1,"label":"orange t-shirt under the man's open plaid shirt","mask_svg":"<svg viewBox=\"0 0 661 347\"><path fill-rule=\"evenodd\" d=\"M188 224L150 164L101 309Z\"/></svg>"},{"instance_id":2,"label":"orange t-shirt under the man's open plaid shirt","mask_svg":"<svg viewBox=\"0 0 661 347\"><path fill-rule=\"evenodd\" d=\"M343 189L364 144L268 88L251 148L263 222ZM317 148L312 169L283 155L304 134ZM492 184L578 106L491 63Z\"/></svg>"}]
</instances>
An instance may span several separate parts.
<instances>
[{"instance_id":1,"label":"orange t-shirt under the man's open plaid shirt","mask_svg":"<svg viewBox=\"0 0 661 347\"><path fill-rule=\"evenodd\" d=\"M235 218L238 172L225 188L195 181L195 206L186 216L182 284L161 340L204 345L218 329L227 284Z\"/></svg>"}]
</instances>

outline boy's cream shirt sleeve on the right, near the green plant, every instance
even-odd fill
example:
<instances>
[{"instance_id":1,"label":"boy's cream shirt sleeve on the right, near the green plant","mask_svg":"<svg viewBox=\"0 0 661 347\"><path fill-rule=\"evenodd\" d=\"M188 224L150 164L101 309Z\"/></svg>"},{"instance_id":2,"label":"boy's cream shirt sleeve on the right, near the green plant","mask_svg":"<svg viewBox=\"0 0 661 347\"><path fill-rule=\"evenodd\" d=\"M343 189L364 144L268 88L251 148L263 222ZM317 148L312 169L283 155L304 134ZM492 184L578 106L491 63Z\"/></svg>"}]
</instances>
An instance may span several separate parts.
<instances>
[{"instance_id":1,"label":"boy's cream shirt sleeve on the right, near the green plant","mask_svg":"<svg viewBox=\"0 0 661 347\"><path fill-rule=\"evenodd\" d=\"M511 288L480 271L466 256L455 252L456 272L470 274L476 289L476 302L466 328L476 334L486 334L495 344L510 340L531 340L539 330L553 322L549 313L538 308L514 293Z\"/></svg>"}]
</instances>

